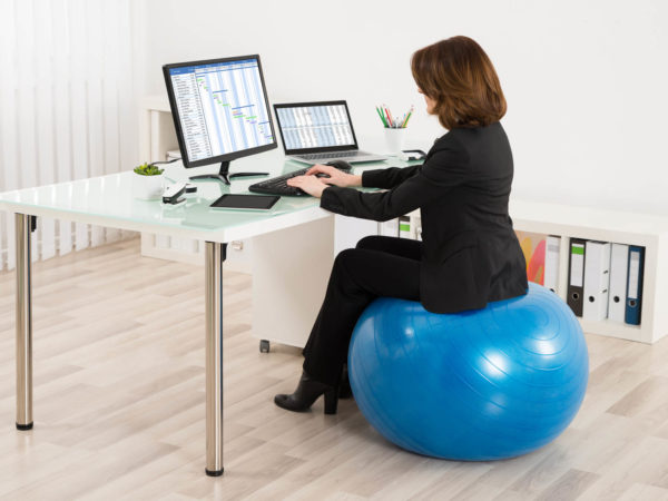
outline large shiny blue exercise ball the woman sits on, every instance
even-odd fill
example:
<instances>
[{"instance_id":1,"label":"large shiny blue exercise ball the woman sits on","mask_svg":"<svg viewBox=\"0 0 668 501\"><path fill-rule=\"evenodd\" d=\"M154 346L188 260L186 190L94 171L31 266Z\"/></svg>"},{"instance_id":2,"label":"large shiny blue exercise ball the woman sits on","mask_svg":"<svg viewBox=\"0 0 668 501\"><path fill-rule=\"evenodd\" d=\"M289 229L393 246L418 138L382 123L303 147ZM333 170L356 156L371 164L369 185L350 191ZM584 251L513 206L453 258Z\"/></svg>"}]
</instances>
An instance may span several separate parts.
<instances>
[{"instance_id":1,"label":"large shiny blue exercise ball the woman sits on","mask_svg":"<svg viewBox=\"0 0 668 501\"><path fill-rule=\"evenodd\" d=\"M524 296L456 314L374 301L355 326L348 375L360 410L391 442L487 461L525 454L568 426L589 357L571 310L530 284Z\"/></svg>"}]
</instances>

